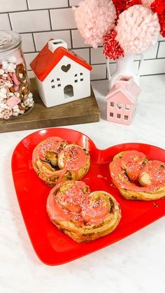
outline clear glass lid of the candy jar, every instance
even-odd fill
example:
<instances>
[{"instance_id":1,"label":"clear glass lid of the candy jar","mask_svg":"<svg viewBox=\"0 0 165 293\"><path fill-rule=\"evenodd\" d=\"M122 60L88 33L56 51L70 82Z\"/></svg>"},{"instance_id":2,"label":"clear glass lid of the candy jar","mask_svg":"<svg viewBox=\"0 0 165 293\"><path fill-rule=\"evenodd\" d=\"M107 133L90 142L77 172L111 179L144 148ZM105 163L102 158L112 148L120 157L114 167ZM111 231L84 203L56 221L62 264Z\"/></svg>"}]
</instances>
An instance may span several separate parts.
<instances>
[{"instance_id":1,"label":"clear glass lid of the candy jar","mask_svg":"<svg viewBox=\"0 0 165 293\"><path fill-rule=\"evenodd\" d=\"M21 36L15 31L0 31L0 53L12 50L20 43Z\"/></svg>"}]
</instances>

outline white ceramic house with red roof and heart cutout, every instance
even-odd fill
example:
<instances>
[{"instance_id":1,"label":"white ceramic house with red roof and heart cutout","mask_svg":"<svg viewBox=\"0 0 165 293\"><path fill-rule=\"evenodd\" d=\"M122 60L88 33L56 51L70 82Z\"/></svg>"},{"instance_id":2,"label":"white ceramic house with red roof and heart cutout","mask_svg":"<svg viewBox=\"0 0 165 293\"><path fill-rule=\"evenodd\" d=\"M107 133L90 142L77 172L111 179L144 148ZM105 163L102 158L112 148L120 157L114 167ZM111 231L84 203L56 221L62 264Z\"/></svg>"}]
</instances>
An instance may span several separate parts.
<instances>
[{"instance_id":1,"label":"white ceramic house with red roof and heart cutout","mask_svg":"<svg viewBox=\"0 0 165 293\"><path fill-rule=\"evenodd\" d=\"M76 101L91 94L92 66L68 50L63 40L48 41L30 65L46 107Z\"/></svg>"}]
</instances>

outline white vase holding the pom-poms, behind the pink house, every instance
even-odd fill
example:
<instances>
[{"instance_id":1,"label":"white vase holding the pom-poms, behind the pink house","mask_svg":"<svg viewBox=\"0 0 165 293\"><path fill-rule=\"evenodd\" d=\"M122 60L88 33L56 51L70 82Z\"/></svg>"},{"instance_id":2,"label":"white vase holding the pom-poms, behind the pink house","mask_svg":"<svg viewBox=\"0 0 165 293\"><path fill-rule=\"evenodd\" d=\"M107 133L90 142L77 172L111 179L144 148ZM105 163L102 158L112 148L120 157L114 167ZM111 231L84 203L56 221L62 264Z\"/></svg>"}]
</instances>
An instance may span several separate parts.
<instances>
[{"instance_id":1,"label":"white vase holding the pom-poms, behind the pink house","mask_svg":"<svg viewBox=\"0 0 165 293\"><path fill-rule=\"evenodd\" d=\"M119 76L132 76L134 78L135 83L139 85L139 78L140 78L140 69L143 64L143 54L140 55L141 60L139 62L138 66L138 72L135 72L134 69L134 55L126 55L124 57L119 57L117 59L117 67L116 70L110 74L110 64L109 64L109 59L107 60L107 71L108 71L108 79L110 80L110 89L113 87L115 80Z\"/></svg>"}]
</instances>

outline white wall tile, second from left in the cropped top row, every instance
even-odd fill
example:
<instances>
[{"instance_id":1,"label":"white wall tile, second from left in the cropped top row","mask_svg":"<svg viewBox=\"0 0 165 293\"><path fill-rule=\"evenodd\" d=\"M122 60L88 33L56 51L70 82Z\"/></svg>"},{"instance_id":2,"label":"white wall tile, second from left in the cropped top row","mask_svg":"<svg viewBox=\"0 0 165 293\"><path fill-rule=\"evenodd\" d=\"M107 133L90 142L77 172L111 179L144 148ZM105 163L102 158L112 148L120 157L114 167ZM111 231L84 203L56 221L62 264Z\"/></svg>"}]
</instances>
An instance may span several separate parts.
<instances>
[{"instance_id":1,"label":"white wall tile, second from left in the cropped top row","mask_svg":"<svg viewBox=\"0 0 165 293\"><path fill-rule=\"evenodd\" d=\"M67 7L68 0L27 0L29 9Z\"/></svg>"}]
</instances>

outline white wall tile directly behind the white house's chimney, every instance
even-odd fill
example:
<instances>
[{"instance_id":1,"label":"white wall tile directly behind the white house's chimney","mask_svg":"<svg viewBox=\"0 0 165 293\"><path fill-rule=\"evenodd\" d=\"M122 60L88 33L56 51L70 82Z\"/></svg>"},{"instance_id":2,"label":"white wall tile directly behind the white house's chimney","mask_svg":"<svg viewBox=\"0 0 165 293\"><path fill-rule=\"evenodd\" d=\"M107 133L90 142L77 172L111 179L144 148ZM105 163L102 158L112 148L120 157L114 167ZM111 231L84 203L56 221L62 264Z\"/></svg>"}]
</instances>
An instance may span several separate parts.
<instances>
[{"instance_id":1,"label":"white wall tile directly behind the white house's chimney","mask_svg":"<svg viewBox=\"0 0 165 293\"><path fill-rule=\"evenodd\" d=\"M40 51L45 43L47 43L50 38L61 38L66 41L68 48L71 48L71 34L70 31L48 31L42 33L34 33L34 41L36 43L36 50Z\"/></svg>"}]
</instances>

